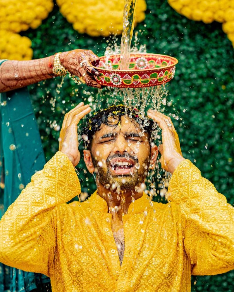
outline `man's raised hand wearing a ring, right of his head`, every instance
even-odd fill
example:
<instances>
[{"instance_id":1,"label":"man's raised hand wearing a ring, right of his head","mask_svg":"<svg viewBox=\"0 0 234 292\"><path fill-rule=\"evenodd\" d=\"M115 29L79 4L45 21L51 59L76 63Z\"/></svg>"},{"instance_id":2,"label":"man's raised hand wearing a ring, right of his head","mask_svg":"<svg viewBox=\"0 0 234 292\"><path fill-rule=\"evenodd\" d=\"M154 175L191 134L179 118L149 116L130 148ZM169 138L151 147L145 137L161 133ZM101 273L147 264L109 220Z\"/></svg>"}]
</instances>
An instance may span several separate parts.
<instances>
[{"instance_id":1,"label":"man's raised hand wearing a ring, right of his head","mask_svg":"<svg viewBox=\"0 0 234 292\"><path fill-rule=\"evenodd\" d=\"M162 129L162 144L159 146L162 168L173 173L180 162L185 160L180 149L178 134L171 119L165 114L149 109L147 115Z\"/></svg>"}]
</instances>

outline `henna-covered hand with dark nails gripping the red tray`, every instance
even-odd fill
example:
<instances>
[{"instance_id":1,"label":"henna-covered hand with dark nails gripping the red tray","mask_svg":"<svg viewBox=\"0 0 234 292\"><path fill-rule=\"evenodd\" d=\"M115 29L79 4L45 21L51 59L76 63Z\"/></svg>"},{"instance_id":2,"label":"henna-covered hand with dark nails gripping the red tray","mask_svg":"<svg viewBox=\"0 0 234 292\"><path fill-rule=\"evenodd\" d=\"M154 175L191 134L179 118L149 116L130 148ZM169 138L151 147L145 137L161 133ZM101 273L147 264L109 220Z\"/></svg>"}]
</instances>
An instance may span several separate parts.
<instances>
[{"instance_id":1,"label":"henna-covered hand with dark nails gripping the red tray","mask_svg":"<svg viewBox=\"0 0 234 292\"><path fill-rule=\"evenodd\" d=\"M91 50L75 49L63 52L59 56L61 64L73 75L82 77L88 86L101 88L93 75L99 76L100 73L94 69L91 62L95 61L98 65L99 58Z\"/></svg>"}]
</instances>

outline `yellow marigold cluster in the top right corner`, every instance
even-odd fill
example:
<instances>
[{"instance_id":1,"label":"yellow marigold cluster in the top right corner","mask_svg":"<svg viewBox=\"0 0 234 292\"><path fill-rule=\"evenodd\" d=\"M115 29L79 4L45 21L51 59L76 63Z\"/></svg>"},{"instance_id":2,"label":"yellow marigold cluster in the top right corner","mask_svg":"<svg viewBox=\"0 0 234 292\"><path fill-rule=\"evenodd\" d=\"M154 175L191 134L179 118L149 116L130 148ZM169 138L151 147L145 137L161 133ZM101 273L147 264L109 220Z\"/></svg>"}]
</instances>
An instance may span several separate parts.
<instances>
[{"instance_id":1,"label":"yellow marigold cluster in the top right corner","mask_svg":"<svg viewBox=\"0 0 234 292\"><path fill-rule=\"evenodd\" d=\"M168 0L178 13L195 21L223 23L223 31L234 46L234 1L233 0Z\"/></svg>"}]
</instances>

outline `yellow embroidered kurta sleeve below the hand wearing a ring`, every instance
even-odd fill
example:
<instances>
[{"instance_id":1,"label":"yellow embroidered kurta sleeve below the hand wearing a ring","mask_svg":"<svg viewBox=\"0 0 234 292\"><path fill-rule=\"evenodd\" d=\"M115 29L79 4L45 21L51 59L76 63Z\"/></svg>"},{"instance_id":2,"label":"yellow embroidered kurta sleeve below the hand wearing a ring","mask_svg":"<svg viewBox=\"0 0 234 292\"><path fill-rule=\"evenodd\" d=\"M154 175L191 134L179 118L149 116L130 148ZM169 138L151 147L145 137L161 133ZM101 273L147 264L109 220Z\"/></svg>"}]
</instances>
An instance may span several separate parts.
<instances>
[{"instance_id":1,"label":"yellow embroidered kurta sleeve below the hand wearing a ring","mask_svg":"<svg viewBox=\"0 0 234 292\"><path fill-rule=\"evenodd\" d=\"M234 208L189 160L174 171L169 201L180 210L184 247L193 275L214 275L234 269Z\"/></svg>"}]
</instances>

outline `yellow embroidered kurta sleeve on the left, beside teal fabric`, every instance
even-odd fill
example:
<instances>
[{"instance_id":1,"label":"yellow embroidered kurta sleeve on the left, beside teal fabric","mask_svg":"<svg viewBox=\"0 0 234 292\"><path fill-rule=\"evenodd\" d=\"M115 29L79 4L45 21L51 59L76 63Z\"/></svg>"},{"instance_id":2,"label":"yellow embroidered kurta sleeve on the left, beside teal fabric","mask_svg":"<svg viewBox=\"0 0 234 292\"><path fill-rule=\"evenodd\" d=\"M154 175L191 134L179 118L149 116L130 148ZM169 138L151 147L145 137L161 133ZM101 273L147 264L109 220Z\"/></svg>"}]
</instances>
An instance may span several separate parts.
<instances>
[{"instance_id":1,"label":"yellow embroidered kurta sleeve on the left, beside teal fabric","mask_svg":"<svg viewBox=\"0 0 234 292\"><path fill-rule=\"evenodd\" d=\"M68 157L57 152L9 206L0 221L0 261L49 276L54 260L56 206L80 194L80 182Z\"/></svg>"}]
</instances>

